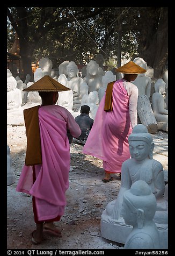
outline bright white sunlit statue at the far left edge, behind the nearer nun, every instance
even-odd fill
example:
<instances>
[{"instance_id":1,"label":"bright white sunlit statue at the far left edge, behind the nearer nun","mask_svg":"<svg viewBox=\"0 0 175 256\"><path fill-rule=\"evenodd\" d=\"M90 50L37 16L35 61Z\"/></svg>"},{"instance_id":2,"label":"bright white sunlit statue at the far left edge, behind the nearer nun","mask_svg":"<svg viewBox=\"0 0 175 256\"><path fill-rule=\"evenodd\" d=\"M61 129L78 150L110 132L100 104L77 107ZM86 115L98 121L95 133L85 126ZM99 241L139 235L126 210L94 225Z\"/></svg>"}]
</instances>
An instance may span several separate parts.
<instances>
[{"instance_id":1,"label":"bright white sunlit statue at the far left edge, behind the nearer nun","mask_svg":"<svg viewBox=\"0 0 175 256\"><path fill-rule=\"evenodd\" d=\"M24 125L21 91L17 88L17 81L13 76L7 78L7 123Z\"/></svg>"}]
</instances>

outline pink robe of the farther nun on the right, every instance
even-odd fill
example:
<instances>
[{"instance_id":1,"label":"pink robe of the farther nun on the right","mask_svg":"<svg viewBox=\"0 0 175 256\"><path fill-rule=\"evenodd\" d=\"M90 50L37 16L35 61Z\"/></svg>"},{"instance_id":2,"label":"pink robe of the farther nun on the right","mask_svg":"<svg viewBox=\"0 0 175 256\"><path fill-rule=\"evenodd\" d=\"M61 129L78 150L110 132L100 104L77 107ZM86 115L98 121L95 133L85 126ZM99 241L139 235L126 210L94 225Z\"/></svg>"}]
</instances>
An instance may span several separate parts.
<instances>
[{"instance_id":1,"label":"pink robe of the farther nun on the right","mask_svg":"<svg viewBox=\"0 0 175 256\"><path fill-rule=\"evenodd\" d=\"M110 112L104 111L105 95L99 104L94 124L83 147L83 153L103 160L108 172L121 173L123 161L130 158L128 136L132 132L129 96L123 80L113 85Z\"/></svg>"}]
</instances>

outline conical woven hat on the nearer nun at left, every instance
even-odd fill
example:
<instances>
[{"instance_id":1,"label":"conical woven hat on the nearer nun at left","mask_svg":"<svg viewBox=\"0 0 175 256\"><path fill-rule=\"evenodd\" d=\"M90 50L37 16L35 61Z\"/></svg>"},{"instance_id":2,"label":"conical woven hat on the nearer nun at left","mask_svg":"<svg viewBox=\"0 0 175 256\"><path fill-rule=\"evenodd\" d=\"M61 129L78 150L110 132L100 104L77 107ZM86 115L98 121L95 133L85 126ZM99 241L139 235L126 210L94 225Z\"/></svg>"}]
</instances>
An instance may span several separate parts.
<instances>
[{"instance_id":1,"label":"conical woven hat on the nearer nun at left","mask_svg":"<svg viewBox=\"0 0 175 256\"><path fill-rule=\"evenodd\" d=\"M23 91L69 91L68 87L57 82L49 75L43 76L40 80L33 83L32 86L25 88Z\"/></svg>"}]
</instances>

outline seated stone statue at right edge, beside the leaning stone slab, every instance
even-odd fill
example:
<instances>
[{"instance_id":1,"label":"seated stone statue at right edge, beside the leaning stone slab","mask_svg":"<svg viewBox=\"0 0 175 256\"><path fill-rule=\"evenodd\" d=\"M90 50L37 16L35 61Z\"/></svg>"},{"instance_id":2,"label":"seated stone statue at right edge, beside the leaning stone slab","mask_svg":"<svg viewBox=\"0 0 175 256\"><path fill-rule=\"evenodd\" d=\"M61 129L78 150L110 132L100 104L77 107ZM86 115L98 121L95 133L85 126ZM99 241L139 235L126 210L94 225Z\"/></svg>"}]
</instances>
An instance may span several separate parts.
<instances>
[{"instance_id":1,"label":"seated stone statue at right edge, beside the leaning stone slab","mask_svg":"<svg viewBox=\"0 0 175 256\"><path fill-rule=\"evenodd\" d=\"M159 78L155 82L155 93L152 94L152 110L158 124L158 130L168 131L168 110L164 101L166 83Z\"/></svg>"}]
</instances>

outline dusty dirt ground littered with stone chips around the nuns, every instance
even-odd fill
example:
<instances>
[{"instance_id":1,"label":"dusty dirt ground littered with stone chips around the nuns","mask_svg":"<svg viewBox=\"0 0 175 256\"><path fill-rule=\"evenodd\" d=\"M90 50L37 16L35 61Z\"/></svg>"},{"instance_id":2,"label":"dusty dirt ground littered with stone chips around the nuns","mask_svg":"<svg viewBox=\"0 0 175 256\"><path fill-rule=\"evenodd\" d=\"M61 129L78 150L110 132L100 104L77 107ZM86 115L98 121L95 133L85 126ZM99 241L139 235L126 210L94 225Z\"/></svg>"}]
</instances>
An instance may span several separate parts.
<instances>
[{"instance_id":1,"label":"dusty dirt ground littered with stone chips around the nuns","mask_svg":"<svg viewBox=\"0 0 175 256\"><path fill-rule=\"evenodd\" d=\"M35 229L32 196L16 191L21 168L25 161L25 126L8 125L8 145L15 182L7 187L7 248L8 249L121 249L122 244L107 240L100 234L100 217L106 205L114 200L120 189L120 178L113 175L109 183L101 181L104 175L102 161L84 155L82 146L71 144L71 168L67 206L61 221L56 225L63 232L62 238L45 233L43 243L33 245L31 233ZM157 140L167 139L167 133L157 133ZM160 137L162 136L162 138ZM165 140L164 140L165 143ZM158 143L157 143L158 145ZM164 155L167 152L165 143ZM165 167L167 168L167 166Z\"/></svg>"}]
</instances>

